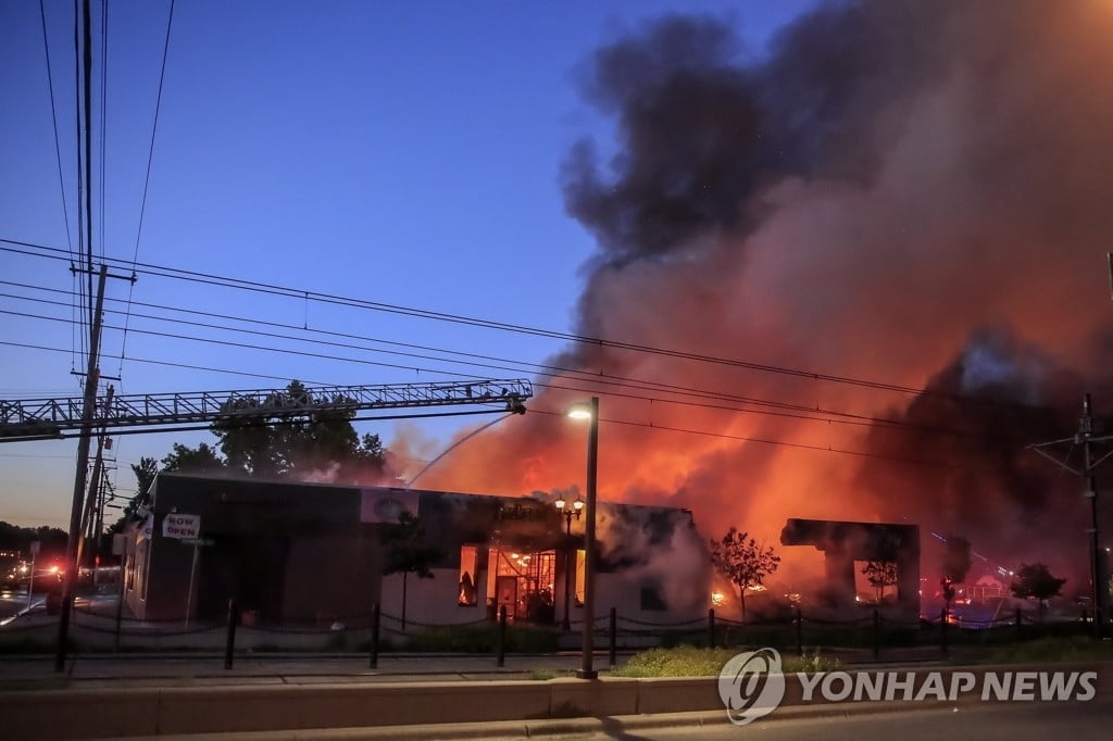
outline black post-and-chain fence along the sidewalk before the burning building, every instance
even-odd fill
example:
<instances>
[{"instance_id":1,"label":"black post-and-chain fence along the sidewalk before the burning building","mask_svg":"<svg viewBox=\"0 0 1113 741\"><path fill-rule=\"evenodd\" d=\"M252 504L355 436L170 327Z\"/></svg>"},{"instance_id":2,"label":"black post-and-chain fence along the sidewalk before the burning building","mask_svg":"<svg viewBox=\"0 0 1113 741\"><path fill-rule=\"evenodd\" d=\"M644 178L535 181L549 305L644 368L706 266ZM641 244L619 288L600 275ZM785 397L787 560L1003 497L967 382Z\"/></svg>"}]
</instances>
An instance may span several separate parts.
<instances>
[{"instance_id":1,"label":"black post-and-chain fence along the sidewalk before the burning building","mask_svg":"<svg viewBox=\"0 0 1113 741\"><path fill-rule=\"evenodd\" d=\"M57 632L57 616L24 615L0 624L0 653L30 652L48 648ZM875 660L897 649L919 649L940 658L959 648L995 646L1044 636L1094 635L1099 626L1083 613L1075 619L1047 621L1022 612L971 619L942 610L937 615L908 616L868 609L859 614L800 607L779 619L733 620L706 614L680 620L652 621L644 613L623 615L612 609L591 621L570 620L559 625L514 621L505 609L494 619L432 622L370 611L332 615L313 622L273 623L245 612L230 601L223 620L138 620L130 615L75 605L70 639L77 651L221 650L230 668L237 654L253 656L283 652L366 653L371 665L381 652L444 652L493 655L503 665L510 653L575 651L585 623L591 623L593 644L610 653L651 646L696 645L708 648L772 646L788 653L807 650L858 650Z\"/></svg>"}]
</instances>

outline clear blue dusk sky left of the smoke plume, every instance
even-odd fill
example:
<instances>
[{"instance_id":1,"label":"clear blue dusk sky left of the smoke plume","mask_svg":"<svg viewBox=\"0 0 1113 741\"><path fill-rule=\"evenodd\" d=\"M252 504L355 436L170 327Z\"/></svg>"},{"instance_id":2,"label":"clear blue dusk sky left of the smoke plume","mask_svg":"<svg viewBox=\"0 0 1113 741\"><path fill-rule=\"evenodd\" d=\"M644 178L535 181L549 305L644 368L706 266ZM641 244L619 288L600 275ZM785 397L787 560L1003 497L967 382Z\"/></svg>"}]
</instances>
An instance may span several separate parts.
<instances>
[{"instance_id":1,"label":"clear blue dusk sky left of the smoke plume","mask_svg":"<svg viewBox=\"0 0 1113 741\"><path fill-rule=\"evenodd\" d=\"M601 45L674 12L726 19L743 42L739 53L757 60L778 28L814 4L179 0L159 102L170 3L95 1L93 250L573 330L582 268L598 246L565 209L561 167L584 138L604 155L614 142L613 118L585 100L578 70ZM9 240L0 243L0 399L78 396L72 372L83 369L66 255L78 250L73 3L46 0L42 10L46 45L39 2L0 3L0 238ZM292 378L530 378L528 365L483 368L444 352L528 364L564 349L559 339L137 273L134 287L110 279L106 292L101 372L120 377L117 393L266 388ZM367 339L337 340L364 347L354 349L186 325L180 319L296 334L180 309L422 345L439 352L421 354L441 359L366 349ZM427 419L405 429L432 457L472 424ZM358 428L387 444L397 432L394 423ZM140 456L200 441L211 437L116 437L117 492L134 493L129 464ZM65 527L75 451L73 441L0 445L0 520Z\"/></svg>"}]
</instances>

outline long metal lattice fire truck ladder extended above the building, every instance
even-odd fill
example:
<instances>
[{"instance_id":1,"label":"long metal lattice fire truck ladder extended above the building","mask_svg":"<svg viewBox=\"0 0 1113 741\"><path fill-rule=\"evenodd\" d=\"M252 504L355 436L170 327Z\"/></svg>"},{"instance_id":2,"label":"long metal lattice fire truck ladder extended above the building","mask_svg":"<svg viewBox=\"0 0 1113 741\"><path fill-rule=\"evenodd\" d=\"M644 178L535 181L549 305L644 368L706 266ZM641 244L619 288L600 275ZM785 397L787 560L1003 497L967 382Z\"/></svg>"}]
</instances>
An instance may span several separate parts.
<instances>
[{"instance_id":1,"label":"long metal lattice fire truck ladder extended above the building","mask_svg":"<svg viewBox=\"0 0 1113 741\"><path fill-rule=\"evenodd\" d=\"M303 386L289 389L195 392L186 394L106 394L92 417L105 431L183 424L269 424L322 412L361 412L431 406L504 404L523 414L533 396L529 381L463 381L381 386ZM82 424L82 397L0 399L0 443L73 437ZM138 429L137 429L138 432Z\"/></svg>"}]
</instances>

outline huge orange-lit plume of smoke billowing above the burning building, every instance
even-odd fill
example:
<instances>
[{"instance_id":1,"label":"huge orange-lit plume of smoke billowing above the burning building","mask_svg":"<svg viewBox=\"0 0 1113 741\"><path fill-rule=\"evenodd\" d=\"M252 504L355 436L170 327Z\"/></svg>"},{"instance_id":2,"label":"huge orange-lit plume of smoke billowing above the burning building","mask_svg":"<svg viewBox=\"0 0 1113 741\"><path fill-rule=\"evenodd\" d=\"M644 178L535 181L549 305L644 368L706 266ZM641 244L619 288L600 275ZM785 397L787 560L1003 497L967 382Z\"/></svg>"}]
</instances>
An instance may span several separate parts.
<instances>
[{"instance_id":1,"label":"huge orange-lit plume of smoke billowing above the burning building","mask_svg":"<svg viewBox=\"0 0 1113 741\"><path fill-rule=\"evenodd\" d=\"M887 518L978 550L992 540L1002 561L1046 544L1084 562L1068 494L1080 483L1023 445L1072 434L1084 391L1113 406L1101 377L1113 77L1096 73L1113 62L1111 34L1103 2L863 0L799 19L765 59L709 18L668 17L601 47L579 75L619 149L580 142L561 172L569 213L599 241L577 330L932 392L573 346L560 363L602 377L904 423L604 393L603 496L691 507L769 542L789 516ZM568 401L550 391L534 404ZM526 415L426 485L548 488L582 471L582 435ZM935 471L922 461L938 458Z\"/></svg>"}]
</instances>

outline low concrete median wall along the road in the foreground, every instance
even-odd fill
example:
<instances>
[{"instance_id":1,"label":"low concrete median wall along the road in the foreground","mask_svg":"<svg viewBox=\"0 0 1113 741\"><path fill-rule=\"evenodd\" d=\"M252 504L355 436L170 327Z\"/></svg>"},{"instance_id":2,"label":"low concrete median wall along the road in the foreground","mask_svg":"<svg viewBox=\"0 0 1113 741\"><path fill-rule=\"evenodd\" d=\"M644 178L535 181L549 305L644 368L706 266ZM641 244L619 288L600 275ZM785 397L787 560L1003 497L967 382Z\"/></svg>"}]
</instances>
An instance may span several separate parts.
<instances>
[{"instance_id":1,"label":"low concrete median wall along the road in the foreground","mask_svg":"<svg viewBox=\"0 0 1113 741\"><path fill-rule=\"evenodd\" d=\"M978 681L987 672L1096 671L1099 694L1111 692L1109 664L1042 664L1038 666L945 668L934 673L949 686L956 672ZM887 670L902 678L924 679L925 670ZM836 673L833 673L836 674ZM854 672L838 672L846 683ZM770 719L800 712L927 707L927 702L895 700L888 703L848 699L829 702L819 696L816 675L811 694L797 675L785 676L785 698ZM964 696L959 702L978 702ZM420 735L434 727L459 727L460 738L469 728L496 722L521 722L536 728L556 728L577 719L664 718L678 713L703 717L717 713L726 721L717 678L623 679L590 682L575 679L549 681L406 682L402 684L267 684L189 688L111 688L0 692L4 732L20 739L92 739L199 733L253 733L326 731L344 729L413 728ZM577 722L573 722L577 721ZM590 725L590 723L589 723ZM525 728L525 725L522 725ZM424 731L422 730L424 729ZM343 733L342 733L343 735ZM482 735L482 734L481 734ZM386 738L386 737L384 737Z\"/></svg>"}]
</instances>

